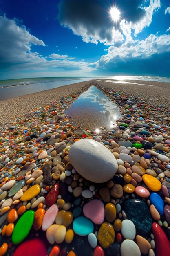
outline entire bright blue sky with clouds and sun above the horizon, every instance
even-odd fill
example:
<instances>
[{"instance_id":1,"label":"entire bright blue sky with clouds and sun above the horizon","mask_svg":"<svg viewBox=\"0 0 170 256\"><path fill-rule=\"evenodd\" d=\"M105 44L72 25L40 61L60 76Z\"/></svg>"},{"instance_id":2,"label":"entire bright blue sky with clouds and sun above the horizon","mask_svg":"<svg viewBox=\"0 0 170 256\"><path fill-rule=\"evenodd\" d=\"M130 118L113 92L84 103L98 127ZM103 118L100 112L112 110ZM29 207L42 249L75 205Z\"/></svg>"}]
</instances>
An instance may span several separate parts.
<instances>
[{"instance_id":1,"label":"entire bright blue sky with clouds and sun above the horizon","mask_svg":"<svg viewBox=\"0 0 170 256\"><path fill-rule=\"evenodd\" d=\"M170 77L170 0L0 0L0 79Z\"/></svg>"}]
</instances>

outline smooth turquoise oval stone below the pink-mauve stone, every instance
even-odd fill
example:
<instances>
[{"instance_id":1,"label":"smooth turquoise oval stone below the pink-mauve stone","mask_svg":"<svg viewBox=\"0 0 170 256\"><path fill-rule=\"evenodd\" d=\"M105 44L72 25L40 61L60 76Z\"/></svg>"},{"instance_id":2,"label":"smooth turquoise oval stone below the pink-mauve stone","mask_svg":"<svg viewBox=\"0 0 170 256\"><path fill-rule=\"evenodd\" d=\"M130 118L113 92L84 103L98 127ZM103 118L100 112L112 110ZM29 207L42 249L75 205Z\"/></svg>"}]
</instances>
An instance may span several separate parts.
<instances>
[{"instance_id":1,"label":"smooth turquoise oval stone below the pink-mauve stone","mask_svg":"<svg viewBox=\"0 0 170 256\"><path fill-rule=\"evenodd\" d=\"M88 236L93 233L93 222L84 216L79 216L73 221L73 231L79 236Z\"/></svg>"}]
</instances>

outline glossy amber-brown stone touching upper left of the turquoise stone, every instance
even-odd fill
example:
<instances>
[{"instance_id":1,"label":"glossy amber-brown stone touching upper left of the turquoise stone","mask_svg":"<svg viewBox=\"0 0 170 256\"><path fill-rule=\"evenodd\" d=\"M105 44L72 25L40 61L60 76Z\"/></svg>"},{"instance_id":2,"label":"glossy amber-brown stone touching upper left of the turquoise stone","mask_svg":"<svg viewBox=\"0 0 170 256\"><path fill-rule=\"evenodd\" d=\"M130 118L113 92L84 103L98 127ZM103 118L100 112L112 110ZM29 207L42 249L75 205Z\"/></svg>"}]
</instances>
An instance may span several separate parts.
<instances>
[{"instance_id":1,"label":"glossy amber-brown stone touching upper left of the turquoise stone","mask_svg":"<svg viewBox=\"0 0 170 256\"><path fill-rule=\"evenodd\" d=\"M57 213L55 223L68 227L73 222L73 213L71 211L61 210Z\"/></svg>"}]
</instances>

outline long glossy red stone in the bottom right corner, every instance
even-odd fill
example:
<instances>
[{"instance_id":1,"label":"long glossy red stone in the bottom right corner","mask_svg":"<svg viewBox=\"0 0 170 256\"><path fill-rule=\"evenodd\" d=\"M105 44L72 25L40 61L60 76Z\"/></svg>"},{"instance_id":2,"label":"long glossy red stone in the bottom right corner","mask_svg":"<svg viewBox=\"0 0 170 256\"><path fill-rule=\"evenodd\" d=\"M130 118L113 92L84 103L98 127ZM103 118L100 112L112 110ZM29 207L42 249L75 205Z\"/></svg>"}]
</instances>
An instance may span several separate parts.
<instances>
[{"instance_id":1,"label":"long glossy red stone in the bottom right corner","mask_svg":"<svg viewBox=\"0 0 170 256\"><path fill-rule=\"evenodd\" d=\"M155 248L157 256L170 256L170 242L161 227L153 222L152 231L155 237Z\"/></svg>"}]
</instances>

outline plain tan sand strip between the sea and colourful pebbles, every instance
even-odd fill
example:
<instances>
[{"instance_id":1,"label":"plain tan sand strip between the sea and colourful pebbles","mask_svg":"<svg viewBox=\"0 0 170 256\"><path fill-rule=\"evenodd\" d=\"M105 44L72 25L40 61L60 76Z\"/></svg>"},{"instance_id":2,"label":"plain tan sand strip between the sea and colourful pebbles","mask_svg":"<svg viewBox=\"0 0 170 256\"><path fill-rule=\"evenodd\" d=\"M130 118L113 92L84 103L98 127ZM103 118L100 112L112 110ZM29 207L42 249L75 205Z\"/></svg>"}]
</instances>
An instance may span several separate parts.
<instances>
[{"instance_id":1,"label":"plain tan sand strip between the sea and colourful pebbles","mask_svg":"<svg viewBox=\"0 0 170 256\"><path fill-rule=\"evenodd\" d=\"M149 99L152 104L162 104L170 108L170 83L139 80L127 80L124 83L117 81L116 83L110 82L109 79L94 79L0 101L0 124L12 123L13 119L24 117L35 108L44 108L53 101L58 101L62 96L71 96L80 90L84 92L92 83L103 88L121 91L123 94L130 94L133 97L139 96L143 100Z\"/></svg>"}]
</instances>

